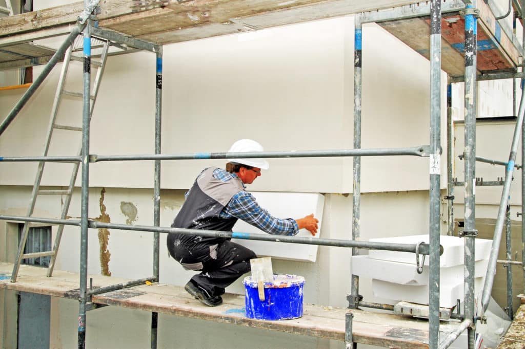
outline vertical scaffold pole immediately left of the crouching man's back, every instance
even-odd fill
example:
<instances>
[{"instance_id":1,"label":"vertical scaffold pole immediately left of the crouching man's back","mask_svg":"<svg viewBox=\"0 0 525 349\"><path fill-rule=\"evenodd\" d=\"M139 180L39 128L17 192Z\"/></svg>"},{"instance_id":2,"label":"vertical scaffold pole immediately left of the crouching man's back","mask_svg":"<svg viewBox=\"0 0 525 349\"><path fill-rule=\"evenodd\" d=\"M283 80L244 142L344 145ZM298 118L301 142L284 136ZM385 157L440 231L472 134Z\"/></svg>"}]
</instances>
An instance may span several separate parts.
<instances>
[{"instance_id":1,"label":"vertical scaffold pole immediately left of the crouching man's back","mask_svg":"<svg viewBox=\"0 0 525 349\"><path fill-rule=\"evenodd\" d=\"M155 74L155 154L161 154L162 120L162 46L156 52ZM155 160L155 188L153 193L153 225L160 226L161 214L161 160ZM153 276L159 281L159 233L153 233ZM159 313L151 313L151 349L157 347Z\"/></svg>"}]
</instances>

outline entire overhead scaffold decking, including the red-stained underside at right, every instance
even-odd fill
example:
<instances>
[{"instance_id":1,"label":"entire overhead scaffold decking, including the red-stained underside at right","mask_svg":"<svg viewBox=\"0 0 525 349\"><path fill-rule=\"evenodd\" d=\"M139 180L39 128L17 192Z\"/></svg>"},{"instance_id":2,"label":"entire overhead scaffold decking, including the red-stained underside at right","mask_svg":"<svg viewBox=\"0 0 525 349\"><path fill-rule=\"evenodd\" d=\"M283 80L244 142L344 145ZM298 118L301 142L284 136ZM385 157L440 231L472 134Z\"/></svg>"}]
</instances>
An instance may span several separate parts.
<instances>
[{"instance_id":1,"label":"entire overhead scaffold decking, including the red-stained underside at right","mask_svg":"<svg viewBox=\"0 0 525 349\"><path fill-rule=\"evenodd\" d=\"M303 21L346 16L376 9L416 4L409 0L190 0L178 3L132 0L101 2L99 27L158 45L265 29ZM148 4L155 4L148 6ZM162 5L162 6L160 6ZM415 5L417 6L417 5ZM516 71L520 54L484 2L478 3L478 70ZM0 18L0 69L12 69L13 45L38 38L67 34L82 13L83 2L21 15ZM417 52L429 56L429 25L423 17L385 21L380 24ZM442 20L442 67L453 77L463 75L464 20L458 14L444 14ZM365 39L365 38L364 38ZM5 53L5 54L4 54ZM7 57L9 54L10 57ZM386 54L386 53L385 53ZM3 57L6 56L6 57ZM16 57L16 56L15 56ZM38 56L35 56L38 57ZM49 55L34 60L45 63ZM20 63L25 61L17 57ZM26 57L30 58L30 57Z\"/></svg>"}]
</instances>

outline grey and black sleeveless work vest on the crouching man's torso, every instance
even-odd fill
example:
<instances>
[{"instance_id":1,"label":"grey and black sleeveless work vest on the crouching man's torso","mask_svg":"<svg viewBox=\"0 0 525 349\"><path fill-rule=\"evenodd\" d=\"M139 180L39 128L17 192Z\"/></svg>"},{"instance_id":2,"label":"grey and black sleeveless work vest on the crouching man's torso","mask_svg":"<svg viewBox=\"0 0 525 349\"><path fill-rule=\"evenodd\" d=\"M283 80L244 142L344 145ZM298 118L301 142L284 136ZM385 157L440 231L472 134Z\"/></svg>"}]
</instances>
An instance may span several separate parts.
<instances>
[{"instance_id":1,"label":"grey and black sleeveless work vest on the crouching man's torso","mask_svg":"<svg viewBox=\"0 0 525 349\"><path fill-rule=\"evenodd\" d=\"M220 211L232 199L233 195L244 190L240 178L227 182L213 177L216 167L205 169L193 183L186 201L178 212L172 227L202 230L232 231L237 222L236 217L219 217ZM192 236L170 233L169 239L176 238L182 244L218 243L223 237ZM175 235L175 236L172 236Z\"/></svg>"}]
</instances>

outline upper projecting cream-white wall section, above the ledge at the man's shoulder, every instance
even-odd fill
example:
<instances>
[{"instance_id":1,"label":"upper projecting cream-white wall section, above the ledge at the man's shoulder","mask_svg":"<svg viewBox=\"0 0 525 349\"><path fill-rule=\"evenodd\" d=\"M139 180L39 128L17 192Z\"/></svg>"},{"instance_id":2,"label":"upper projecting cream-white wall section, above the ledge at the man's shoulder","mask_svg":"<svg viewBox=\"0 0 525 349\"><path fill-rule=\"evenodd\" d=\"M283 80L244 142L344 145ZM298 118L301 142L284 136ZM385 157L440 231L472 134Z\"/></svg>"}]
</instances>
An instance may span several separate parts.
<instances>
[{"instance_id":1,"label":"upper projecting cream-white wall section, above the ledge at the man's shoulder","mask_svg":"<svg viewBox=\"0 0 525 349\"><path fill-rule=\"evenodd\" d=\"M35 76L40 69L35 67ZM80 89L80 64L74 71L76 84L70 85ZM5 149L4 154L41 154L58 75L58 69L51 72L2 135L0 149ZM153 153L154 82L154 54L132 53L108 59L91 122L91 154ZM365 25L362 147L428 144L428 91L428 61L378 26ZM0 94L4 115L23 92ZM442 100L444 103L445 94ZM351 149L353 18L166 45L162 112L165 154L227 151L239 138L256 139L266 150ZM445 112L443 104L442 114ZM65 99L58 119L62 124L80 125L81 103ZM444 123L442 129L444 137ZM65 133L56 132L61 141L51 144L49 154L76 154L79 140ZM164 161L161 185L188 188L202 167L223 163ZM270 165L264 180L256 181L251 189L352 191L351 158L270 159ZM4 163L0 184L31 185L36 166ZM361 189L428 189L428 166L428 158L363 158ZM44 174L44 185L67 182L69 165L46 167L50 171ZM151 188L152 166L145 161L93 163L90 184Z\"/></svg>"}]
</instances>

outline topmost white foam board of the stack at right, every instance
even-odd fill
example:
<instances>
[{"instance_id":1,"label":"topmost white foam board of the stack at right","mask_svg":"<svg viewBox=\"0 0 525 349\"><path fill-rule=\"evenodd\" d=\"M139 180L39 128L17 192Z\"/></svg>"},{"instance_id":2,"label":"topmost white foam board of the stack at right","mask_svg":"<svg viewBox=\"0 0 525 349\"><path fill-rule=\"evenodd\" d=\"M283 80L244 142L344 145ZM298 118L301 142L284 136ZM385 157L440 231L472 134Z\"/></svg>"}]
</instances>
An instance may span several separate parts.
<instances>
[{"instance_id":1,"label":"topmost white foam board of the stack at right","mask_svg":"<svg viewBox=\"0 0 525 349\"><path fill-rule=\"evenodd\" d=\"M440 245L443 246L443 254L439 257L440 267L453 267L456 265L462 265L464 263L464 240L457 236L441 235ZM398 236L398 237L386 237L370 239L373 242L387 242L387 243L398 243L398 244L417 244L421 241L428 243L428 235L409 235L409 236ZM478 239L476 238L475 245L475 260L481 260L487 258L490 254L490 247L492 240ZM416 256L409 252L396 252L386 250L371 250L369 257L372 259L382 259L397 261L401 263L416 264ZM422 256L419 256L421 261ZM428 256L425 258L425 264L429 265Z\"/></svg>"}]
</instances>

